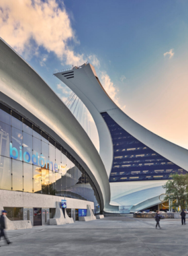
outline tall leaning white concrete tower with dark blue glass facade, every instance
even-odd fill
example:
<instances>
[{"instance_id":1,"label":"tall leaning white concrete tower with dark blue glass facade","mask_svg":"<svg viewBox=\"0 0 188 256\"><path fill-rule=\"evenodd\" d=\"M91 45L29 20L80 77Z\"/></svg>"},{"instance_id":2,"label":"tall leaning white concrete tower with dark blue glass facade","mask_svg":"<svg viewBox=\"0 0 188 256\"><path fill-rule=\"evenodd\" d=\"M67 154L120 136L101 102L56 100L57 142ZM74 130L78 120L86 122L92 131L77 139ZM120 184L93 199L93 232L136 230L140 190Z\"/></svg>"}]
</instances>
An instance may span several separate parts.
<instances>
[{"instance_id":1,"label":"tall leaning white concrete tower with dark blue glass facade","mask_svg":"<svg viewBox=\"0 0 188 256\"><path fill-rule=\"evenodd\" d=\"M54 75L77 94L95 121L111 204L119 205L120 212L157 206L162 185L173 173L188 171L188 151L128 117L107 95L91 64Z\"/></svg>"}]
</instances>

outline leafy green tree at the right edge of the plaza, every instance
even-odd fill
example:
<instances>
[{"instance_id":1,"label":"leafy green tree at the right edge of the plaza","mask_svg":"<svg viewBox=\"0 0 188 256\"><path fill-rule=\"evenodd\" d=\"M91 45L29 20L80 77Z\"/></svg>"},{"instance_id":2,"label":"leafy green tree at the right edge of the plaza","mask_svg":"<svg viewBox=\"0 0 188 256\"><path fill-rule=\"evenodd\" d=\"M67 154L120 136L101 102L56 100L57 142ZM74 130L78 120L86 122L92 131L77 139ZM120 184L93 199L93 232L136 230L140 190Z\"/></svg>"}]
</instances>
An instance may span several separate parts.
<instances>
[{"instance_id":1,"label":"leafy green tree at the right edge of the plaza","mask_svg":"<svg viewBox=\"0 0 188 256\"><path fill-rule=\"evenodd\" d=\"M181 210L187 208L188 203L188 174L173 174L173 179L167 181L162 187L166 196L164 201L171 201L173 207L181 206Z\"/></svg>"}]
</instances>

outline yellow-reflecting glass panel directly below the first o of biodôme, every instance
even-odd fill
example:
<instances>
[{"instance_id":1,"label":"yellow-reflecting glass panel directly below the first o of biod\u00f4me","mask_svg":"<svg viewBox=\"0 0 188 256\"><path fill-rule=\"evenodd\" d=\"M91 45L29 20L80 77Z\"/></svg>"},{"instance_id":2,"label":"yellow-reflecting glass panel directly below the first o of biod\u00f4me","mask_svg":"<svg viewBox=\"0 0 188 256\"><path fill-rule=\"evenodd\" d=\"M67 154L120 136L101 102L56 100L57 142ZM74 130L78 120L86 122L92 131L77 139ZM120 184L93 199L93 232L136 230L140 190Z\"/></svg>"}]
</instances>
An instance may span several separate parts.
<instances>
[{"instance_id":1,"label":"yellow-reflecting glass panel directly below the first o of biod\u00f4me","mask_svg":"<svg viewBox=\"0 0 188 256\"><path fill-rule=\"evenodd\" d=\"M30 192L33 191L33 168L32 164L23 162L23 191Z\"/></svg>"}]
</instances>

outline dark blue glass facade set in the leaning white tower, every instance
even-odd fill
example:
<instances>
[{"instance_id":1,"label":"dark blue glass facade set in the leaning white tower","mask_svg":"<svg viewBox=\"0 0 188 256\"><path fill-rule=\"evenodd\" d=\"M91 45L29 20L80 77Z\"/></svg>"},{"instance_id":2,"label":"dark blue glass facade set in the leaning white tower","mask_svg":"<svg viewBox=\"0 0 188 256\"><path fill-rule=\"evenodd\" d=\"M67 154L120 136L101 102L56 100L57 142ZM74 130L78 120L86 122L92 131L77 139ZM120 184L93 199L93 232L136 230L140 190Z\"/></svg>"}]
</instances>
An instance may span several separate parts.
<instances>
[{"instance_id":1,"label":"dark blue glass facade set in the leaning white tower","mask_svg":"<svg viewBox=\"0 0 188 256\"><path fill-rule=\"evenodd\" d=\"M187 173L130 135L107 113L101 115L113 141L113 164L109 182L167 180L174 173Z\"/></svg>"}]
</instances>

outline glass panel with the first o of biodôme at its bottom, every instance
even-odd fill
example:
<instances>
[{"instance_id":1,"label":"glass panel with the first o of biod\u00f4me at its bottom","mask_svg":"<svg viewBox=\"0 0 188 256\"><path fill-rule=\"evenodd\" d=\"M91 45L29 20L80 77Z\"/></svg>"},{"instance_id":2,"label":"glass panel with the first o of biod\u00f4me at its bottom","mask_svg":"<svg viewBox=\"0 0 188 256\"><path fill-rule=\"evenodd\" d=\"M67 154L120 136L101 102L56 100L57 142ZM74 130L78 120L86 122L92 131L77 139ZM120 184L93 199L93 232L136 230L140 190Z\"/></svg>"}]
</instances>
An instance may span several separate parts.
<instances>
[{"instance_id":1,"label":"glass panel with the first o of biod\u00f4me at its bottom","mask_svg":"<svg viewBox=\"0 0 188 256\"><path fill-rule=\"evenodd\" d=\"M23 161L32 163L32 135L23 132ZM28 152L28 153L26 153ZM25 154L24 154L25 153Z\"/></svg>"}]
</instances>

